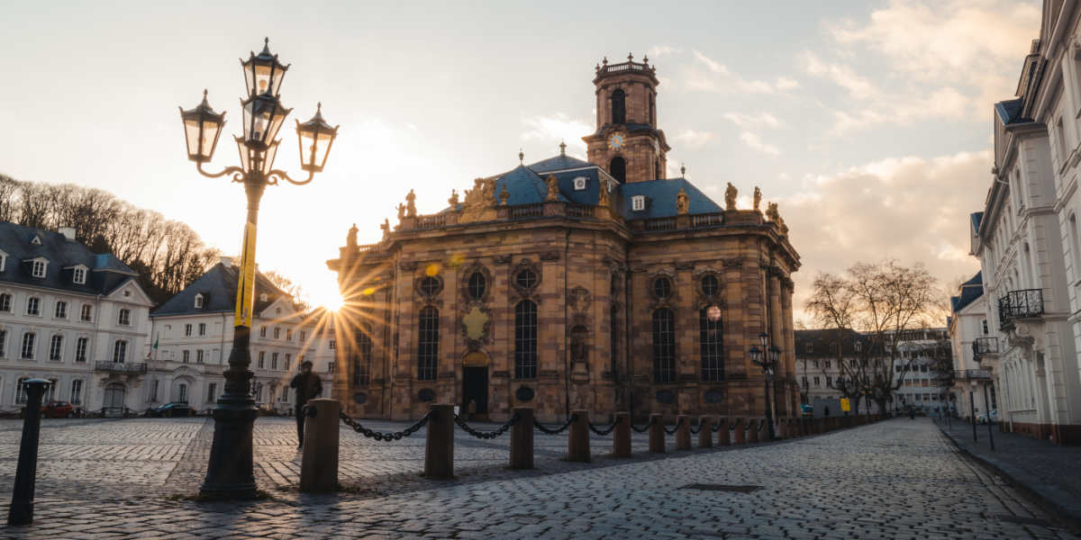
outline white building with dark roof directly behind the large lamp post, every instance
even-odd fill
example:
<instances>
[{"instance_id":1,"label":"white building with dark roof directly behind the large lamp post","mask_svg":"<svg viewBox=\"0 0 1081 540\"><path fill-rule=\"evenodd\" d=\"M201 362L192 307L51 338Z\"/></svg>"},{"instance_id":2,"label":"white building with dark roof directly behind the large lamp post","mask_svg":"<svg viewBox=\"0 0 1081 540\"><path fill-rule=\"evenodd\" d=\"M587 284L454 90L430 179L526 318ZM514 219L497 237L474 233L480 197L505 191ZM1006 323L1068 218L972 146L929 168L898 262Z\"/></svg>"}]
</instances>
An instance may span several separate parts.
<instances>
[{"instance_id":1,"label":"white building with dark roof directly behind the large lamp post","mask_svg":"<svg viewBox=\"0 0 1081 540\"><path fill-rule=\"evenodd\" d=\"M150 314L150 364L146 407L185 402L213 408L224 392L232 350L238 269L228 257ZM296 406L289 382L313 341L310 320L296 310L293 297L256 272L252 321L252 393L257 405L288 410ZM330 381L324 395L330 395Z\"/></svg>"}]
</instances>

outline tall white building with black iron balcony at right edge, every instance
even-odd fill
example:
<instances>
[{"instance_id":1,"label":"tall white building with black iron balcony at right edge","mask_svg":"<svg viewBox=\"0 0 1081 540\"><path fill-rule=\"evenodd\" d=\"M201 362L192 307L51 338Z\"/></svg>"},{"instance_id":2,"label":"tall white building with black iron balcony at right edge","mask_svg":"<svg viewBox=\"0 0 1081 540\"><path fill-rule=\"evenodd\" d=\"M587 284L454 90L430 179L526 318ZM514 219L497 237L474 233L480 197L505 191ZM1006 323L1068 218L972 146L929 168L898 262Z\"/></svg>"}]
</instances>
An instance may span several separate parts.
<instances>
[{"instance_id":1,"label":"tall white building with black iron balcony at right edge","mask_svg":"<svg viewBox=\"0 0 1081 540\"><path fill-rule=\"evenodd\" d=\"M1081 10L1044 2L1016 98L995 105L995 167L972 253L1003 428L1081 444Z\"/></svg>"}]
</instances>

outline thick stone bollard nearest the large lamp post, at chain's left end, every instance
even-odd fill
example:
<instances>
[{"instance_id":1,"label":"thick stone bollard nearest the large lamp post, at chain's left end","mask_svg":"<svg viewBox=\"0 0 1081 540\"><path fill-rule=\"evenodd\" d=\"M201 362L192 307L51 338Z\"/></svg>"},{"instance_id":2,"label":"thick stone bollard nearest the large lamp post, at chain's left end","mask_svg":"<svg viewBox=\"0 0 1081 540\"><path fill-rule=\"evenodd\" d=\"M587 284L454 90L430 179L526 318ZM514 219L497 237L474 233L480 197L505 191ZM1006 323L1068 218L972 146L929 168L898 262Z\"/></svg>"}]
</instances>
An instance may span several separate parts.
<instances>
[{"instance_id":1,"label":"thick stone bollard nearest the large lamp post, at chain's left end","mask_svg":"<svg viewBox=\"0 0 1081 540\"><path fill-rule=\"evenodd\" d=\"M337 488L338 413L336 400L308 400L304 420L304 454L301 456L301 491Z\"/></svg>"}]
</instances>

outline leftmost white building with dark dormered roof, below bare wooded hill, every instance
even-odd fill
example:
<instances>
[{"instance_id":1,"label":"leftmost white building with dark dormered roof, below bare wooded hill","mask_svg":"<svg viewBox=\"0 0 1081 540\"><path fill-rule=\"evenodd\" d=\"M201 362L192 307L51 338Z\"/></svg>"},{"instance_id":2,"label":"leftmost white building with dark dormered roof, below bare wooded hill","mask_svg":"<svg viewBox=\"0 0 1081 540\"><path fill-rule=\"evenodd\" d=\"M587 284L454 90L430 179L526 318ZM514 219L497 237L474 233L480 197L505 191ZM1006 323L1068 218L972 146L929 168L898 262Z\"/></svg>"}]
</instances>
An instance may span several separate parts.
<instances>
[{"instance_id":1,"label":"leftmost white building with dark dormered roof, below bare wooded hill","mask_svg":"<svg viewBox=\"0 0 1081 540\"><path fill-rule=\"evenodd\" d=\"M94 254L75 229L0 222L0 408L26 403L22 381L54 381L45 401L120 414L146 376L138 357L150 299L138 274Z\"/></svg>"}]
</instances>

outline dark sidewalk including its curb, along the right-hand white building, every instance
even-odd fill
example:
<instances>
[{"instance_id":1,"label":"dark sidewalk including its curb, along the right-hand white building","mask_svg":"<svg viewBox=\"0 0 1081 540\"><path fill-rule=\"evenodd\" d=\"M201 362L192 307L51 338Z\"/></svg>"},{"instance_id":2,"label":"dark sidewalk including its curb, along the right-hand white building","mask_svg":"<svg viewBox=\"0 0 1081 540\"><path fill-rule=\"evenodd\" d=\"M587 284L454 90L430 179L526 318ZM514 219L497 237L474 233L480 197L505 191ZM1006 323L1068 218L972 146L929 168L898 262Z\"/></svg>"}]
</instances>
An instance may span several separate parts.
<instances>
[{"instance_id":1,"label":"dark sidewalk including its curb, along the right-hand white building","mask_svg":"<svg viewBox=\"0 0 1081 540\"><path fill-rule=\"evenodd\" d=\"M952 420L952 428L936 419L955 445L980 464L1024 491L1060 522L1081 530L1081 446L1063 446L1016 433L1003 433L992 427L976 427Z\"/></svg>"}]
</instances>

